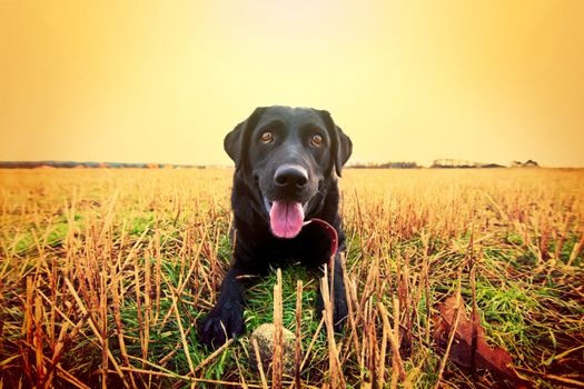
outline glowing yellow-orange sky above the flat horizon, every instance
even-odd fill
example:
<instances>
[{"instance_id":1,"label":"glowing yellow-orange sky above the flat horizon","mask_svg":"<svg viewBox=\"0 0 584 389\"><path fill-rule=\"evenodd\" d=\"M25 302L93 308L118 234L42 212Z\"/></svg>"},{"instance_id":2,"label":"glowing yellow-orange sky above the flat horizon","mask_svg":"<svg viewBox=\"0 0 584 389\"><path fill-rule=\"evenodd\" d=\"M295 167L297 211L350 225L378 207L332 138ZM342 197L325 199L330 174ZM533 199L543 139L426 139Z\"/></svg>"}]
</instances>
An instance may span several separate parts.
<instances>
[{"instance_id":1,"label":"glowing yellow-orange sky above the flat horizon","mask_svg":"<svg viewBox=\"0 0 584 389\"><path fill-rule=\"evenodd\" d=\"M0 0L0 160L229 163L257 106L352 161L584 166L584 1Z\"/></svg>"}]
</instances>

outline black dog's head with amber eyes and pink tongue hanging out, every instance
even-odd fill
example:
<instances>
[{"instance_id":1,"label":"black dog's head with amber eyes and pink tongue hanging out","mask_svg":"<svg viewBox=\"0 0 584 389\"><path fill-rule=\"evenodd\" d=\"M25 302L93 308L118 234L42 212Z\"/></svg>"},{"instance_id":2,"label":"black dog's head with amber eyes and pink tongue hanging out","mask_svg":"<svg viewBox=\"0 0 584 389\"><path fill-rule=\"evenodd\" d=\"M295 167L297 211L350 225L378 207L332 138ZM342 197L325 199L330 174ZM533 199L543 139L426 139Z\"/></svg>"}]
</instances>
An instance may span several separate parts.
<instances>
[{"instance_id":1,"label":"black dog's head with amber eyes and pink tongue hanging out","mask_svg":"<svg viewBox=\"0 0 584 389\"><path fill-rule=\"evenodd\" d=\"M327 111L263 107L225 138L236 173L260 191L265 216L278 238L294 238L324 181L340 177L350 139Z\"/></svg>"}]
</instances>

